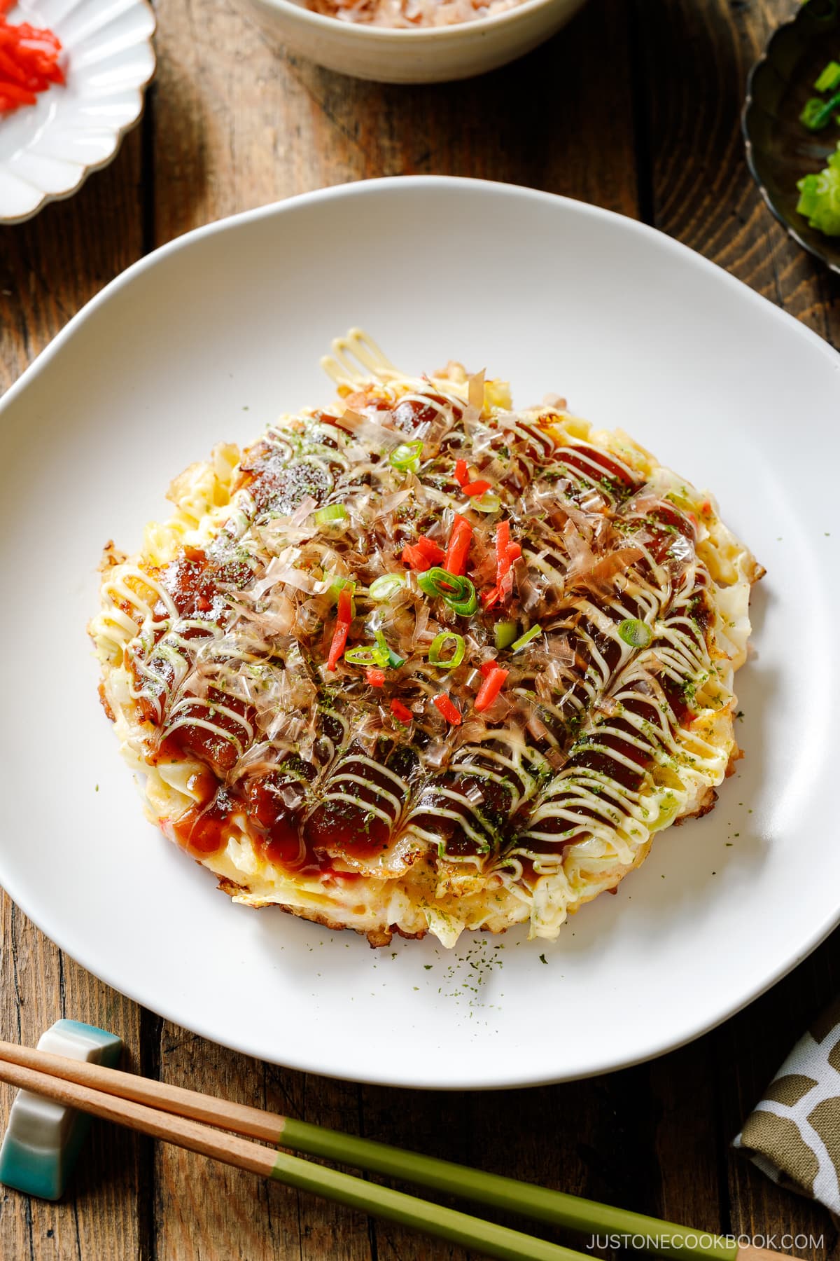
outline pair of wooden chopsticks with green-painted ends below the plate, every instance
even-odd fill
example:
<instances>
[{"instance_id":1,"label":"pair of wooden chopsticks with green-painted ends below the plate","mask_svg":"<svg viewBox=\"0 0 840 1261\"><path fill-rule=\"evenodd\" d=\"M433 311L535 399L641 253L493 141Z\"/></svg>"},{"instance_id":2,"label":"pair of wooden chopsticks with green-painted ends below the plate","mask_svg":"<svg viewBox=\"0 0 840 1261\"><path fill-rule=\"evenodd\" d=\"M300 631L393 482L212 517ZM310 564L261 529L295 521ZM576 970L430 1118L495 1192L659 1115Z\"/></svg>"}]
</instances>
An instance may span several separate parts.
<instances>
[{"instance_id":1,"label":"pair of wooden chopsticks with green-painted ends below the plate","mask_svg":"<svg viewBox=\"0 0 840 1261\"><path fill-rule=\"evenodd\" d=\"M373 1217L399 1222L502 1261L591 1261L591 1257L404 1192L301 1160L275 1148L302 1151L354 1169L462 1195L552 1226L586 1233L627 1236L628 1246L641 1246L662 1256L738 1261L739 1253L749 1252L756 1261L759 1251L739 1248L732 1240L714 1238L699 1231L514 1178L482 1173L448 1160L403 1151L370 1139L340 1134L306 1121L295 1121L261 1108L230 1103L179 1086L14 1043L0 1042L0 1081L165 1142L174 1142L189 1151L198 1151L237 1169L273 1178L288 1187L338 1200ZM263 1142L272 1144L272 1148L263 1146ZM644 1242L640 1245L639 1241ZM741 1261L744 1261L743 1256Z\"/></svg>"}]
</instances>

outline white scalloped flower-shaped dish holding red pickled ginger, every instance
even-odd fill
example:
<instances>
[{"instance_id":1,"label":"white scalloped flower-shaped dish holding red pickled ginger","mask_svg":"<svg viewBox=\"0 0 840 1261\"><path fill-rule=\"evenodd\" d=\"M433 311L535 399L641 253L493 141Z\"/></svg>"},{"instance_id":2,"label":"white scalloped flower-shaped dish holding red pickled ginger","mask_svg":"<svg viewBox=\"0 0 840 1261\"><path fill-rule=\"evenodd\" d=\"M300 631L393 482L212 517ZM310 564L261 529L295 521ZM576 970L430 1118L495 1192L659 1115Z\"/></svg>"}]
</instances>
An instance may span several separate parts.
<instances>
[{"instance_id":1,"label":"white scalloped flower-shaped dish holding red pickled ginger","mask_svg":"<svg viewBox=\"0 0 840 1261\"><path fill-rule=\"evenodd\" d=\"M0 222L21 223L107 166L139 122L155 73L155 15L147 0L39 0L9 21L50 26L67 76L0 117Z\"/></svg>"}]
</instances>

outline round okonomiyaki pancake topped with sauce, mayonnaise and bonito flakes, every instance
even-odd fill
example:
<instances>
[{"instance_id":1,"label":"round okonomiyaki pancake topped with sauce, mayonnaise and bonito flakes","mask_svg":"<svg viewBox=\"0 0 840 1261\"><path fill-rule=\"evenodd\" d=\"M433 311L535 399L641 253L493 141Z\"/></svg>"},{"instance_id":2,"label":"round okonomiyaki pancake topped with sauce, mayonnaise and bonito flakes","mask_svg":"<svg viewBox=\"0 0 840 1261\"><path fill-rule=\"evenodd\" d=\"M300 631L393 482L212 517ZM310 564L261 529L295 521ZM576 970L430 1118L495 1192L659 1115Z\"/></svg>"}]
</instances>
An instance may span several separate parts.
<instances>
[{"instance_id":1,"label":"round okonomiyaki pancake topped with sauce, mayonnaise and bonito flakes","mask_svg":"<svg viewBox=\"0 0 840 1261\"><path fill-rule=\"evenodd\" d=\"M358 330L338 398L217 446L91 623L150 815L234 900L385 944L565 917L739 757L761 569L621 430Z\"/></svg>"}]
</instances>

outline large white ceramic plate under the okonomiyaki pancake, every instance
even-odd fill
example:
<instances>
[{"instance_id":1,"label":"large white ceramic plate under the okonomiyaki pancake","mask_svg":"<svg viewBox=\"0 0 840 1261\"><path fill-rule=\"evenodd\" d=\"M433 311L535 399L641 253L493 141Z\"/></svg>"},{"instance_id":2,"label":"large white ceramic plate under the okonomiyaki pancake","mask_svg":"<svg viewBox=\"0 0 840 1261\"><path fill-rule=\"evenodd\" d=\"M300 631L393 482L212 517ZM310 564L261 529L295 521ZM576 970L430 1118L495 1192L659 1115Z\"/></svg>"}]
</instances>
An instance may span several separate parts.
<instances>
[{"instance_id":1,"label":"large white ceramic plate under the okonomiyaki pancake","mask_svg":"<svg viewBox=\"0 0 840 1261\"><path fill-rule=\"evenodd\" d=\"M372 951L234 907L145 822L96 695L99 549L171 474L330 397L351 324L411 371L451 357L568 396L720 498L768 574L738 676L747 750L554 946ZM261 1058L429 1087L581 1077L723 1020L837 922L840 357L689 250L521 188L406 178L201 228L131 267L0 405L0 879L72 956ZM25 979L24 979L25 984Z\"/></svg>"}]
</instances>

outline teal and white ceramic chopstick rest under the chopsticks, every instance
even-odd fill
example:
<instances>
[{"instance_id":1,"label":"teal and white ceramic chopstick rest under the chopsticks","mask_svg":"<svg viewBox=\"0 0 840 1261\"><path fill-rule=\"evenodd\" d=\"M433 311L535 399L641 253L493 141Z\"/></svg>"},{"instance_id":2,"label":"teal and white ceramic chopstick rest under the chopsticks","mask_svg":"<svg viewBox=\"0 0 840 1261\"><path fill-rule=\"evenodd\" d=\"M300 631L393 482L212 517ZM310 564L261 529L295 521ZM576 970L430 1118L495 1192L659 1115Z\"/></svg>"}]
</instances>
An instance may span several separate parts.
<instances>
[{"instance_id":1,"label":"teal and white ceramic chopstick rest under the chopsticks","mask_svg":"<svg viewBox=\"0 0 840 1261\"><path fill-rule=\"evenodd\" d=\"M113 1068L122 1039L79 1020L57 1020L39 1050ZM89 1116L52 1100L19 1091L0 1146L0 1183L42 1199L59 1199L91 1124Z\"/></svg>"}]
</instances>

